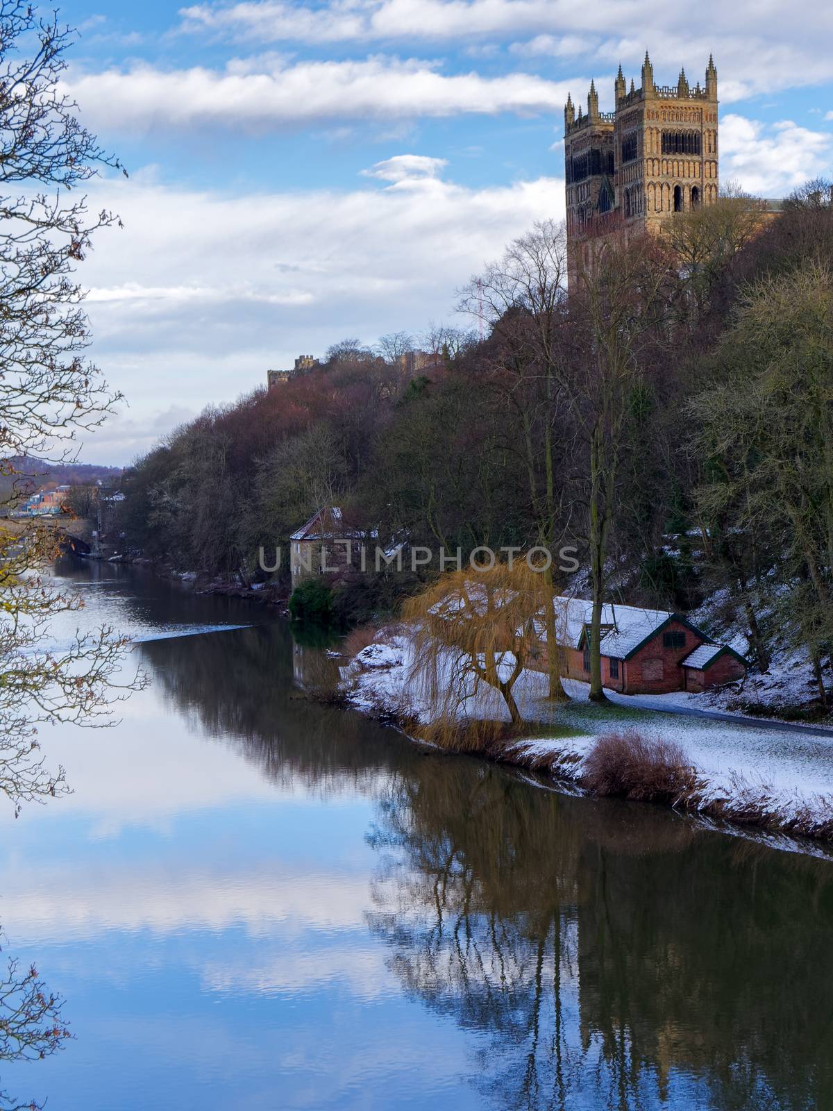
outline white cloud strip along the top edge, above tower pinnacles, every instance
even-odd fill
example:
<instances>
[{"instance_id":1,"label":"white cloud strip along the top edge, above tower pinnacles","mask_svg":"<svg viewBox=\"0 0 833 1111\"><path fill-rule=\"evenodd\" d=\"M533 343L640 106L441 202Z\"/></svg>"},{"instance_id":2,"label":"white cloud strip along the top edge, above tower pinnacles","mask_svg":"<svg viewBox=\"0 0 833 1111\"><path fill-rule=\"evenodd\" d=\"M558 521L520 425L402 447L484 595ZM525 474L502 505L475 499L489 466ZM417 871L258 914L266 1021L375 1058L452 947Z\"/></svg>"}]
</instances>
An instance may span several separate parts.
<instances>
[{"instance_id":1,"label":"white cloud strip along the top edge, above tower pinnacles","mask_svg":"<svg viewBox=\"0 0 833 1111\"><path fill-rule=\"evenodd\" d=\"M443 42L455 48L479 39L512 40L516 54L595 56L639 67L645 46L658 77L692 77L714 53L724 79L722 99L812 84L833 78L833 21L819 8L795 19L789 0L727 6L705 0L692 33L691 9L664 0L331 0L317 7L284 0L198 3L182 9L182 29L257 42ZM633 28L642 28L634 34ZM526 42L518 39L529 37ZM695 64L697 63L697 64ZM665 68L668 67L668 73ZM694 72L696 70L697 72ZM673 71L673 72L672 72ZM731 74L731 79L730 79ZM639 83L639 69L634 74Z\"/></svg>"}]
</instances>

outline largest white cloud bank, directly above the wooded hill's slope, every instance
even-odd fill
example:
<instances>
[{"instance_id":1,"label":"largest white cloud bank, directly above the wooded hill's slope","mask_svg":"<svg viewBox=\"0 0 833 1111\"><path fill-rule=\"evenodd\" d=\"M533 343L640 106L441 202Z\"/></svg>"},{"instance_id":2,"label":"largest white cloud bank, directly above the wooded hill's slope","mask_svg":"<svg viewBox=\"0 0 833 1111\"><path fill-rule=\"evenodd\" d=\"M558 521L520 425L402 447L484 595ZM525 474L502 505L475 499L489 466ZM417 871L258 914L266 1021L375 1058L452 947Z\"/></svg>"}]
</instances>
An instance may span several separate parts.
<instances>
[{"instance_id":1,"label":"largest white cloud bank, directly above the wooded hill's slope","mask_svg":"<svg viewBox=\"0 0 833 1111\"><path fill-rule=\"evenodd\" d=\"M300 351L454 319L455 289L484 261L563 216L554 176L473 189L441 170L444 159L402 153L345 190L227 197L145 173L96 184L91 203L124 228L98 237L80 278L93 290L93 356L130 409L89 436L83 458L129 462Z\"/></svg>"}]
</instances>

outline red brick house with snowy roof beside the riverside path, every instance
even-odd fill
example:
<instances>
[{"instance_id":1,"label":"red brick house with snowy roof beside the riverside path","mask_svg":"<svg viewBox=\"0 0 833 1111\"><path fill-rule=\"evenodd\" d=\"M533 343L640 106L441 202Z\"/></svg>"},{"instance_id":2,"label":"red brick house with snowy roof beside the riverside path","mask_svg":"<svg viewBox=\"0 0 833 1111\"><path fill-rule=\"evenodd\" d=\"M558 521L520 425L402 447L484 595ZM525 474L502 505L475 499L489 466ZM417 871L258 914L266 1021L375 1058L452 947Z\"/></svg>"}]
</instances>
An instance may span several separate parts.
<instances>
[{"instance_id":1,"label":"red brick house with snowy roof beside the riverside path","mask_svg":"<svg viewBox=\"0 0 833 1111\"><path fill-rule=\"evenodd\" d=\"M556 598L556 635L571 679L590 680L592 603ZM742 679L746 661L681 613L609 603L602 608L602 684L623 694L703 691Z\"/></svg>"}]
</instances>

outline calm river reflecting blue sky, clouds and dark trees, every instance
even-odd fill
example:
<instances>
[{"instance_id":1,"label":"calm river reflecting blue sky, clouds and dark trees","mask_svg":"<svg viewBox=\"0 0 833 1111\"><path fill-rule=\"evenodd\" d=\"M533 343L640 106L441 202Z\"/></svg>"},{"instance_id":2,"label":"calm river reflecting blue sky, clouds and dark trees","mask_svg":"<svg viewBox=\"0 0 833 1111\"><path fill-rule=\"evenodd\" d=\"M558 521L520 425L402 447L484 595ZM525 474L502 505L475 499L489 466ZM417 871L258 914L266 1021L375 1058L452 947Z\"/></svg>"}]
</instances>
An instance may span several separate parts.
<instances>
[{"instance_id":1,"label":"calm river reflecting blue sky, clouds and dark trees","mask_svg":"<svg viewBox=\"0 0 833 1111\"><path fill-rule=\"evenodd\" d=\"M48 731L72 795L0 810L8 953L74 1034L0 1061L0 1091L50 1111L833 1108L833 864L425 753L304 699L332 661L257 608L59 574L86 622L138 638L151 684L113 730Z\"/></svg>"}]
</instances>

